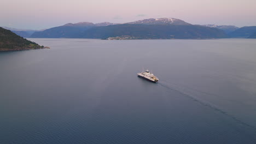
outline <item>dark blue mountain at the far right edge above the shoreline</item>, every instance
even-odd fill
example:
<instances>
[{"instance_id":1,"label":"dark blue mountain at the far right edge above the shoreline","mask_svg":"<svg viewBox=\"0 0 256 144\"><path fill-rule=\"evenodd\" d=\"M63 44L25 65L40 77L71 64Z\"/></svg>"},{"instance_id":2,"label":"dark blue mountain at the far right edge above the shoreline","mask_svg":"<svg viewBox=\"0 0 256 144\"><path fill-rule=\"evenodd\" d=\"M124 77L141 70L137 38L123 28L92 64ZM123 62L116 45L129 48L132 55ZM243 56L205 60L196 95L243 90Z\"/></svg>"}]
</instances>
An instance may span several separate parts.
<instances>
[{"instance_id":1,"label":"dark blue mountain at the far right edge above the shoreline","mask_svg":"<svg viewBox=\"0 0 256 144\"><path fill-rule=\"evenodd\" d=\"M256 32L256 26L241 27L236 31L229 33L232 38L248 38L250 35Z\"/></svg>"}]
</instances>

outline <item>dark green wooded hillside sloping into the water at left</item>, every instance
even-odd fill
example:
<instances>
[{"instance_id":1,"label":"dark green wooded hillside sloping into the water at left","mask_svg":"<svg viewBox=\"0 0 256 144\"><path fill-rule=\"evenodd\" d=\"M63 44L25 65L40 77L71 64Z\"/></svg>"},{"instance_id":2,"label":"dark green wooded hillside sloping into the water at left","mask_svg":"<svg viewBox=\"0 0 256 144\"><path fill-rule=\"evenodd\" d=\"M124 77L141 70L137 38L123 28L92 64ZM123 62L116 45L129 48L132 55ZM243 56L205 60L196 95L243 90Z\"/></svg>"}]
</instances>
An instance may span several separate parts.
<instances>
[{"instance_id":1,"label":"dark green wooded hillside sloping into the water at left","mask_svg":"<svg viewBox=\"0 0 256 144\"><path fill-rule=\"evenodd\" d=\"M40 46L30 40L26 40L8 29L0 27L0 51L18 51L44 49L49 47Z\"/></svg>"}]
</instances>

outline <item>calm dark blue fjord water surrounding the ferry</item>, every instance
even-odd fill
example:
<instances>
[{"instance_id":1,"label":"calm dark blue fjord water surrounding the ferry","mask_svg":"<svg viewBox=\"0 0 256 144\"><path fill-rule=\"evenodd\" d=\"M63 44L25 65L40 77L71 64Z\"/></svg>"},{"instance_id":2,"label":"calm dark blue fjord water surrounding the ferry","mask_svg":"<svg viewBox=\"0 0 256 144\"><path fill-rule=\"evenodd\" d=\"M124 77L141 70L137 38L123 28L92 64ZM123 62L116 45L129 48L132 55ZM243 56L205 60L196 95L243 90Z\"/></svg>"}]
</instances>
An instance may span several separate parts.
<instances>
[{"instance_id":1,"label":"calm dark blue fjord water surrounding the ferry","mask_svg":"<svg viewBox=\"0 0 256 144\"><path fill-rule=\"evenodd\" d=\"M256 40L30 40L0 53L1 144L256 143Z\"/></svg>"}]
</instances>

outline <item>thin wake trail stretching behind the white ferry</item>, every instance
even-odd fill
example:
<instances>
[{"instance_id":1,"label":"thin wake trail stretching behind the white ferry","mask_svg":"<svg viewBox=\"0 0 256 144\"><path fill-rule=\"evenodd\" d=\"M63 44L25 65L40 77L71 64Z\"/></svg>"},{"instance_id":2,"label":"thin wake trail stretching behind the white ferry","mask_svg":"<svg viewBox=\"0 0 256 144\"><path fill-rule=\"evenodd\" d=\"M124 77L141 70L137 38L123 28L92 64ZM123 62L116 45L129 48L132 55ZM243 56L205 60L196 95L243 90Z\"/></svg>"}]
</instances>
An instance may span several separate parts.
<instances>
[{"instance_id":1,"label":"thin wake trail stretching behind the white ferry","mask_svg":"<svg viewBox=\"0 0 256 144\"><path fill-rule=\"evenodd\" d=\"M234 119L234 121L236 121L237 123L240 123L240 124L242 124L242 125L246 125L247 127L253 129L253 131L256 133L256 127L254 127L253 125L241 121L240 119L236 118L235 116L230 115L229 113L225 112L224 110L219 109L218 107L213 106L212 104L209 104L209 103L207 103L206 101L200 100L200 99L194 97L194 96L191 95L191 94L187 94L187 93L185 93L185 92L182 92L181 90L178 90L178 88L177 88L178 86L177 86L177 85L174 85L173 83L168 83L168 85L173 85L173 87L170 87L170 86L168 86L167 84L165 84L165 83L163 83L163 82L166 82L166 83L167 83L167 81L162 81L162 82L159 82L158 85L160 85L160 86L162 86L162 87L165 87L165 88L167 88L167 89L170 89L170 90L172 90L172 91L178 92L178 93L184 95L185 97L188 97L188 98L190 98L190 99L196 101L197 103L199 103L199 104L201 104L201 105L210 107L210 108L213 109L214 111L223 113L223 115L228 116L228 117ZM202 92L202 93L203 93L203 92ZM208 93L204 93L204 94L208 94Z\"/></svg>"}]
</instances>

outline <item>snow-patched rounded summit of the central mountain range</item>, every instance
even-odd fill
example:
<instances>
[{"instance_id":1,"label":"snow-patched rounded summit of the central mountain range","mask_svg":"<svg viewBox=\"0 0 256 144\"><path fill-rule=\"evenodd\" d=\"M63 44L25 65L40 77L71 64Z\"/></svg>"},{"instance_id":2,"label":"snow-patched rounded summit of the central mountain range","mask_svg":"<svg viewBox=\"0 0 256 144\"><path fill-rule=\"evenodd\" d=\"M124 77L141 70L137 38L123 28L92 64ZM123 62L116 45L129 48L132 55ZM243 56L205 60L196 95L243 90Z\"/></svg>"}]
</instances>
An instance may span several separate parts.
<instances>
[{"instance_id":1,"label":"snow-patched rounded summit of the central mountain range","mask_svg":"<svg viewBox=\"0 0 256 144\"><path fill-rule=\"evenodd\" d=\"M142 24L142 25L191 25L190 23L184 22L174 18L160 18L160 19L145 19L134 22L128 22L127 24Z\"/></svg>"}]
</instances>

